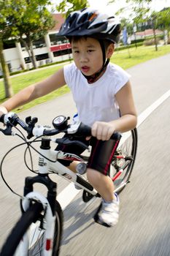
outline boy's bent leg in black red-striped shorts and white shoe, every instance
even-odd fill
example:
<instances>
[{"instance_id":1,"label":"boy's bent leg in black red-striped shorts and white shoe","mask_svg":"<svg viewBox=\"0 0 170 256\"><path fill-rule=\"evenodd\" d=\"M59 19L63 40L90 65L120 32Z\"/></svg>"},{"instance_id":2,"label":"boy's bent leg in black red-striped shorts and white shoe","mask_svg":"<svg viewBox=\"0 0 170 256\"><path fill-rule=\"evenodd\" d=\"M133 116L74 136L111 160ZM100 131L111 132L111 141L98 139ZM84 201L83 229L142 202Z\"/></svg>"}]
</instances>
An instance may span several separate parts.
<instances>
[{"instance_id":1,"label":"boy's bent leg in black red-striped shorts and white shoe","mask_svg":"<svg viewBox=\"0 0 170 256\"><path fill-rule=\"evenodd\" d=\"M108 176L117 145L114 140L93 140L88 162L88 181L103 198L97 222L109 227L117 224L119 212L119 198L114 194L114 185Z\"/></svg>"}]
</instances>

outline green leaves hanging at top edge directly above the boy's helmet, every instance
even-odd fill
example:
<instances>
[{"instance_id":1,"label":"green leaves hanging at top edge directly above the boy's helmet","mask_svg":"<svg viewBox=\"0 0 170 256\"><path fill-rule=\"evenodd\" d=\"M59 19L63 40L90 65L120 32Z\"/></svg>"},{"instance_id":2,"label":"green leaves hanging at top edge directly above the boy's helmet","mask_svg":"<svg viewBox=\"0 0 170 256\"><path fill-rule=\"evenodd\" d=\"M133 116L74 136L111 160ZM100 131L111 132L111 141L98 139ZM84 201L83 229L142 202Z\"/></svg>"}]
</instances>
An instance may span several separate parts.
<instances>
[{"instance_id":1,"label":"green leaves hanging at top edge directly above the boy's helmet","mask_svg":"<svg viewBox=\"0 0 170 256\"><path fill-rule=\"evenodd\" d=\"M62 0L61 3L56 6L56 10L58 10L58 12L66 13L67 17L70 12L81 10L88 6L89 4L87 0Z\"/></svg>"}]
</instances>

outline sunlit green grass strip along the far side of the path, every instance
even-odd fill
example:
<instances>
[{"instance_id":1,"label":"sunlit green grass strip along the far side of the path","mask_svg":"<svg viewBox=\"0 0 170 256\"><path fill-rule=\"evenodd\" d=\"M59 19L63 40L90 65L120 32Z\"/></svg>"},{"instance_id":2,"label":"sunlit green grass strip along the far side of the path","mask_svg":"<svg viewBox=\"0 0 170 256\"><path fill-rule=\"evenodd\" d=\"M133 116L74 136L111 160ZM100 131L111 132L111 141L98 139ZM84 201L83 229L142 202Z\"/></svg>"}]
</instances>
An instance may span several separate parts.
<instances>
[{"instance_id":1,"label":"sunlit green grass strip along the far side of the path","mask_svg":"<svg viewBox=\"0 0 170 256\"><path fill-rule=\"evenodd\" d=\"M170 45L158 47L158 51L155 51L155 47L138 47L138 48L131 48L129 50L121 50L116 51L111 61L123 69L128 69L129 67L133 67L136 64L140 64L144 61L157 58L159 56L163 56L167 53L170 53ZM63 67L63 64L60 66L55 67L48 67L47 69L38 69L36 72L24 73L23 75L11 77L12 81L12 88L14 93L16 94L21 89L25 88L26 86L31 85L32 83L36 83L40 80L44 80L49 75L52 75L58 69ZM20 110L26 110L28 108L33 107L34 105L40 104L42 102L46 102L47 100L54 99L62 94L69 92L69 88L67 86L63 86L61 89L53 91L50 94L47 94L44 97L39 99L35 99L33 102L30 102L24 105L22 108L15 110L15 112L19 112ZM3 81L0 81L0 104L4 102L4 85Z\"/></svg>"}]
</instances>

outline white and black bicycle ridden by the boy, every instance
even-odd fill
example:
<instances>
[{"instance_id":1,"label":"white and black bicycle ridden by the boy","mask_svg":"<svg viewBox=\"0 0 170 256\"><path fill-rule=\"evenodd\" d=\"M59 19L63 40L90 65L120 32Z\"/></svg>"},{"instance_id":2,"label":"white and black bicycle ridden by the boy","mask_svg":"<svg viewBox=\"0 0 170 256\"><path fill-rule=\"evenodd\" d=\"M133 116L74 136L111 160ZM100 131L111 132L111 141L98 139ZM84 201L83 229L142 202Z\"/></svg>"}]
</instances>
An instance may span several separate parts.
<instances>
[{"instance_id":1,"label":"white and black bicycle ridden by the boy","mask_svg":"<svg viewBox=\"0 0 170 256\"><path fill-rule=\"evenodd\" d=\"M89 184L80 173L74 173L68 167L63 166L58 159L69 159L82 162L87 162L88 157L81 154L80 156L62 151L52 150L50 143L74 144L88 149L88 146L78 140L72 138L51 138L53 135L58 135L64 132L68 135L89 136L90 127L77 122L76 124L68 124L69 118L65 116L58 116L53 119L53 129L42 125L36 125L38 118L31 118L28 116L26 122L21 120L15 113L3 115L0 121L6 124L4 129L0 129L4 135L17 135L24 142L18 144L14 148L26 144L26 151L24 160L26 162L26 152L29 151L31 157L31 148L39 154L39 170L34 171L33 168L28 167L36 175L26 177L24 195L20 198L21 217L16 223L12 232L9 234L7 240L1 249L1 256L25 256L25 255L59 255L61 236L63 231L63 213L60 204L56 200L56 186L57 184L49 177L50 173L66 178L66 180L74 182L82 188L82 200L87 203L92 197L100 197L98 192ZM27 139L25 135L17 128L17 125L22 127L27 132ZM20 131L20 134L14 132L13 129ZM35 137L34 140L30 140ZM136 129L131 131L131 136L125 140L125 143L118 147L121 135L115 133L112 139L115 143L115 154L110 166L109 176L115 183L115 192L123 190L129 182L131 172L134 167L137 148L137 132ZM40 143L39 151L32 146L33 143ZM13 148L12 148L13 149ZM9 154L10 151L7 152ZM1 177L3 178L7 187L14 192L7 181L5 181L2 173L2 163L5 157L1 160ZM79 165L80 165L79 164ZM34 184L40 183L47 187L47 196L34 191ZM16 193L15 193L16 194ZM99 209L99 208L98 208ZM97 214L97 212L96 212ZM94 217L97 222L97 215Z\"/></svg>"}]
</instances>

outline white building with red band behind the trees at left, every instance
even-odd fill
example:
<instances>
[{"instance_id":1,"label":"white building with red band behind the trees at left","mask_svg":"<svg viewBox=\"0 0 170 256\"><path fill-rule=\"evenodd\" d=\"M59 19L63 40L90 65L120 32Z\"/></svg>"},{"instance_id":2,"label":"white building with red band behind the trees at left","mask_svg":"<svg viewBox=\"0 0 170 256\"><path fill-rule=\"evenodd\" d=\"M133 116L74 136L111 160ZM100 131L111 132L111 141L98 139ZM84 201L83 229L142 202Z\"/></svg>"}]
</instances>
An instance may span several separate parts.
<instances>
[{"instance_id":1,"label":"white building with red band behind the trees at left","mask_svg":"<svg viewBox=\"0 0 170 256\"><path fill-rule=\"evenodd\" d=\"M58 31L64 21L63 15L58 13L53 14L53 17L57 21L55 27L45 37L34 42L34 54L38 67L72 58L69 41L65 37L58 36ZM24 45L13 39L4 42L4 58L8 64L9 72L33 67ZM0 75L1 73L0 66Z\"/></svg>"}]
</instances>

